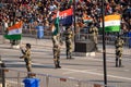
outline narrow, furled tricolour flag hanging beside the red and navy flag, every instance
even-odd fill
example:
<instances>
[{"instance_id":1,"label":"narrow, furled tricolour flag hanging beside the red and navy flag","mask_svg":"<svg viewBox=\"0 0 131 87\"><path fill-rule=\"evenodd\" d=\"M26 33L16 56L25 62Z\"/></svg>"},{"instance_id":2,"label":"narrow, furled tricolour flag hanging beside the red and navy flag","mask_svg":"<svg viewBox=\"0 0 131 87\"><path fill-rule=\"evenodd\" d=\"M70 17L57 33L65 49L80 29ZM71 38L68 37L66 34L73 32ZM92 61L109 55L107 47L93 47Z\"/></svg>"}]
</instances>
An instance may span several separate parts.
<instances>
[{"instance_id":1,"label":"narrow, furled tricolour flag hanging beside the red and navy flag","mask_svg":"<svg viewBox=\"0 0 131 87\"><path fill-rule=\"evenodd\" d=\"M52 35L57 35L58 33L59 33L59 11L57 12L57 17L55 18Z\"/></svg>"}]
</instances>

